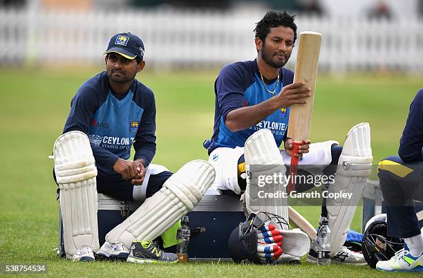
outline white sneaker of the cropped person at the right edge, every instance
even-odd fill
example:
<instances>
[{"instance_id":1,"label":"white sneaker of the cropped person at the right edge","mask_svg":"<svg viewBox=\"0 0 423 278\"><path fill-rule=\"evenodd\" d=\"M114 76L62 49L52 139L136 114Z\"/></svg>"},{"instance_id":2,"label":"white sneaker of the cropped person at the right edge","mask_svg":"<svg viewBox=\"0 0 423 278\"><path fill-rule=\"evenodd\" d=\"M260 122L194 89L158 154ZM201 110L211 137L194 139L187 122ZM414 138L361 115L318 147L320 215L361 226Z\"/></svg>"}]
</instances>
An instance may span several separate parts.
<instances>
[{"instance_id":1,"label":"white sneaker of the cropped person at the right edge","mask_svg":"<svg viewBox=\"0 0 423 278\"><path fill-rule=\"evenodd\" d=\"M377 270L400 272L423 272L423 254L413 257L405 244L404 249L395 253L389 261L378 261Z\"/></svg>"}]
</instances>

